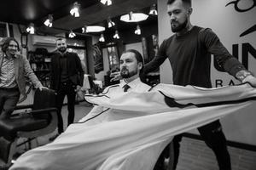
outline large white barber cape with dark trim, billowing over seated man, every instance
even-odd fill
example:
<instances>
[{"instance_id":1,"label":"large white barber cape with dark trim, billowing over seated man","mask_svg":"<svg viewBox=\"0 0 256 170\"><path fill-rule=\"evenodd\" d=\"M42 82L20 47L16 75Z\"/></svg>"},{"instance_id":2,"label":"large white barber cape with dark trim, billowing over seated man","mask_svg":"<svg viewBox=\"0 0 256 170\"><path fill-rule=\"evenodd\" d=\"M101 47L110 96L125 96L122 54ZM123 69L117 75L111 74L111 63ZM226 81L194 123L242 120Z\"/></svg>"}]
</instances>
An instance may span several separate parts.
<instances>
[{"instance_id":1,"label":"large white barber cape with dark trim, billowing over seated man","mask_svg":"<svg viewBox=\"0 0 256 170\"><path fill-rule=\"evenodd\" d=\"M72 124L53 143L27 151L10 169L151 170L173 135L242 110L255 98L249 84L159 84L147 93L85 96L104 110ZM90 123L97 119L102 122Z\"/></svg>"}]
</instances>

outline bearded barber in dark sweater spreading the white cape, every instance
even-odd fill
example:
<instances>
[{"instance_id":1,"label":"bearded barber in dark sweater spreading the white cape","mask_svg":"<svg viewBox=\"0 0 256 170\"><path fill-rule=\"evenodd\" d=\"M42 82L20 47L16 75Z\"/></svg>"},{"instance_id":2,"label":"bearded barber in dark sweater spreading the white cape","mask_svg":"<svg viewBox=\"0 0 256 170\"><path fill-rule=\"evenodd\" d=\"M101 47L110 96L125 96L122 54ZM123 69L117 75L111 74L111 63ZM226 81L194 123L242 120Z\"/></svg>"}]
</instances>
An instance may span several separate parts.
<instances>
[{"instance_id":1,"label":"bearded barber in dark sweater spreading the white cape","mask_svg":"<svg viewBox=\"0 0 256 170\"><path fill-rule=\"evenodd\" d=\"M172 65L174 84L212 88L210 66L213 54L218 67L241 82L250 82L256 87L256 78L231 56L211 29L191 25L191 0L168 0L167 12L175 34L162 42L159 53L145 65L144 74L154 71L168 58ZM202 139L213 150L219 169L230 170L230 154L220 122L211 122L198 130ZM181 139L182 135L173 139L174 169L177 167Z\"/></svg>"}]
</instances>

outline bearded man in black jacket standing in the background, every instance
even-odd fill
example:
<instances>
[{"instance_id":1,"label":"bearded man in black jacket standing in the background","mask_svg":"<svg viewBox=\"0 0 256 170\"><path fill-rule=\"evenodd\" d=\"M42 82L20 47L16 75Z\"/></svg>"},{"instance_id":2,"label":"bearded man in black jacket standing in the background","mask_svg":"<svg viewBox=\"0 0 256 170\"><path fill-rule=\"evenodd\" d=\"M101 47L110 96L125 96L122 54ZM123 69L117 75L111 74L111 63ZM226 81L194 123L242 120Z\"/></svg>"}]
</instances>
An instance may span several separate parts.
<instances>
[{"instance_id":1,"label":"bearded man in black jacket standing in the background","mask_svg":"<svg viewBox=\"0 0 256 170\"><path fill-rule=\"evenodd\" d=\"M67 95L67 126L74 120L74 105L76 92L83 86L84 71L78 54L67 52L67 42L65 38L56 40L56 53L51 57L51 78L50 88L57 93L56 104L58 108L58 134L50 138L54 140L63 133L63 119L61 108L63 100Z\"/></svg>"}]
</instances>

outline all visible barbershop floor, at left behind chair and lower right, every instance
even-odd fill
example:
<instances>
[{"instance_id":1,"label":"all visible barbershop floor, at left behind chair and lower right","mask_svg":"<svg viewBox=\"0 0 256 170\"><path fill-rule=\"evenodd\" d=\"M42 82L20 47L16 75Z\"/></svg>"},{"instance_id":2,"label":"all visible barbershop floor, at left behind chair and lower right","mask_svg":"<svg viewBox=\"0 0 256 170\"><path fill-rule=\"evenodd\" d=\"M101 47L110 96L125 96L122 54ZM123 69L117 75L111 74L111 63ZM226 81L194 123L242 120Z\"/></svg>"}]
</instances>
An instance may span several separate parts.
<instances>
[{"instance_id":1,"label":"all visible barbershop floor, at left behind chair and lower right","mask_svg":"<svg viewBox=\"0 0 256 170\"><path fill-rule=\"evenodd\" d=\"M92 107L85 102L76 105L75 121L85 116ZM62 109L64 125L67 127L67 106ZM49 143L49 137L54 133L38 138L32 143L32 147ZM21 142L21 141L20 141ZM20 147L20 151L27 146ZM233 170L256 170L256 152L229 147ZM181 155L177 164L177 170L218 170L217 161L207 145L198 139L183 138Z\"/></svg>"}]
</instances>

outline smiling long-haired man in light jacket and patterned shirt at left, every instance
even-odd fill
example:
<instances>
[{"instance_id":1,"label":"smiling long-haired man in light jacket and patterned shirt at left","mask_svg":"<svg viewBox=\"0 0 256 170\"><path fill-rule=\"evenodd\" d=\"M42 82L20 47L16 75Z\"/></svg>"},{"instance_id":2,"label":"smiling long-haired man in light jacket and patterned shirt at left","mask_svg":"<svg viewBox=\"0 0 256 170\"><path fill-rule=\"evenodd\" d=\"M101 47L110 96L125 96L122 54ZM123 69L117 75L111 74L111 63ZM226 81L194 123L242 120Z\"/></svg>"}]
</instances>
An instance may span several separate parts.
<instances>
[{"instance_id":1,"label":"smiling long-haired man in light jacket and patterned shirt at left","mask_svg":"<svg viewBox=\"0 0 256 170\"><path fill-rule=\"evenodd\" d=\"M15 110L20 94L26 99L26 78L35 88L42 90L26 56L17 54L19 43L13 37L3 38L1 42L3 53L0 54L0 119L9 118Z\"/></svg>"}]
</instances>

